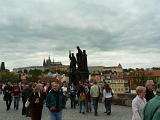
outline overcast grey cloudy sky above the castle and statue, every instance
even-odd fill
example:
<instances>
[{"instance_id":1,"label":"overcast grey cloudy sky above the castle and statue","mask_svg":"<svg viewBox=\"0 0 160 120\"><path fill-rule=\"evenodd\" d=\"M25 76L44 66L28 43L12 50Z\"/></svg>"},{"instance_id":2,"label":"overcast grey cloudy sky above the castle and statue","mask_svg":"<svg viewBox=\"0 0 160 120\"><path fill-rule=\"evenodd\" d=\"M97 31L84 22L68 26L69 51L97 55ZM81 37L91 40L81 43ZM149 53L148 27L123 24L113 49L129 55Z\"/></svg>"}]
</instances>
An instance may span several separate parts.
<instances>
[{"instance_id":1,"label":"overcast grey cloudy sky above the castle and statue","mask_svg":"<svg viewBox=\"0 0 160 120\"><path fill-rule=\"evenodd\" d=\"M160 67L159 0L1 0L0 62L69 64L85 49L88 64Z\"/></svg>"}]
</instances>

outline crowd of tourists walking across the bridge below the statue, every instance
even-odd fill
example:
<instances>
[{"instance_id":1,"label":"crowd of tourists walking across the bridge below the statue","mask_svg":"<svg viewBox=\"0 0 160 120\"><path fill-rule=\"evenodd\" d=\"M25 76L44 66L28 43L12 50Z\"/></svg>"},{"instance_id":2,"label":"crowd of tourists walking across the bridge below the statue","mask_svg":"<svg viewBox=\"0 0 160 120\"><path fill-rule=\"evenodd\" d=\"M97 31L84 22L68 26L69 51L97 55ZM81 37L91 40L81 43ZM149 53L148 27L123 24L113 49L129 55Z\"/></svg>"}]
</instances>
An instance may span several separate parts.
<instances>
[{"instance_id":1,"label":"crowd of tourists walking across the bridge below the statue","mask_svg":"<svg viewBox=\"0 0 160 120\"><path fill-rule=\"evenodd\" d=\"M98 115L98 103L104 101L107 115L111 115L111 102L114 91L109 84L98 85L97 82L79 83L78 85L61 83L54 80L50 83L6 83L2 87L6 111L10 110L12 100L14 109L19 109L22 101L22 115L31 120L41 120L43 107L50 111L51 120L62 120L62 110L66 109L66 102L70 101L70 108L79 108L79 113L94 112ZM68 102L69 102L68 101Z\"/></svg>"}]
</instances>

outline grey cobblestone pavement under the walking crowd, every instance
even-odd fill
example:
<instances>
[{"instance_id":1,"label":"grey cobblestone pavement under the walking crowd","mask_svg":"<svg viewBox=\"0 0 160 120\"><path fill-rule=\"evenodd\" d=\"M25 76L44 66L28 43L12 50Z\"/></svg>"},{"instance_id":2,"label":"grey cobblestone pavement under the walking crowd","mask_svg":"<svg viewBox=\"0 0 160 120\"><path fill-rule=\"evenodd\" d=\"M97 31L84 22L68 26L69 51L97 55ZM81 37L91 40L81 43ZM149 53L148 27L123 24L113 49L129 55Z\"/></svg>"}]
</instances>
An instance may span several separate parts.
<instances>
[{"instance_id":1,"label":"grey cobblestone pavement under the walking crowd","mask_svg":"<svg viewBox=\"0 0 160 120\"><path fill-rule=\"evenodd\" d=\"M0 120L30 120L29 117L21 115L22 102L20 101L20 108L18 111L13 109L13 102L11 109L6 111L5 102L0 95ZM92 113L80 114L78 107L71 109L69 101L67 103L67 109L63 110L63 120L131 120L132 111L131 107L112 105L112 114L110 116L104 113L104 106L99 104L98 116L94 116ZM48 109L44 106L42 120L50 120Z\"/></svg>"}]
</instances>

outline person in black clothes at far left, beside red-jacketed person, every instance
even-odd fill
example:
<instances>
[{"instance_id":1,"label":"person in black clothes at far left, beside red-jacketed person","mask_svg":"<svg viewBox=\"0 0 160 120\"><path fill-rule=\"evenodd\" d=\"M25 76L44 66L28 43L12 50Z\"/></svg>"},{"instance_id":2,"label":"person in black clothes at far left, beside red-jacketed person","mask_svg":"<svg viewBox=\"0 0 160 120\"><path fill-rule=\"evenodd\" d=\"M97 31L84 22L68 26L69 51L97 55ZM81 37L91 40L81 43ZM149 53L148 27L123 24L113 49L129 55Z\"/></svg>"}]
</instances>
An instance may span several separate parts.
<instances>
[{"instance_id":1,"label":"person in black clothes at far left, beside red-jacketed person","mask_svg":"<svg viewBox=\"0 0 160 120\"><path fill-rule=\"evenodd\" d=\"M7 111L8 111L12 103L12 86L10 82L8 82L4 87L3 94L4 94L4 100L6 101Z\"/></svg>"}]
</instances>

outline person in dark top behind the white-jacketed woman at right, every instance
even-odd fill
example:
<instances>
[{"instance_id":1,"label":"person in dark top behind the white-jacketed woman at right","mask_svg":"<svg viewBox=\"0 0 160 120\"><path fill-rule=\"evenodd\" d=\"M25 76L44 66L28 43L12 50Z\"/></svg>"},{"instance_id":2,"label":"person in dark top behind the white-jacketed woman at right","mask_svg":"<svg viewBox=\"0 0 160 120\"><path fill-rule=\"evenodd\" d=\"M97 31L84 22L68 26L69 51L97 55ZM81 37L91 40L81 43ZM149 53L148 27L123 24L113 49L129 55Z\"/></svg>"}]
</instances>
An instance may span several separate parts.
<instances>
[{"instance_id":1,"label":"person in dark top behind the white-jacketed woman at right","mask_svg":"<svg viewBox=\"0 0 160 120\"><path fill-rule=\"evenodd\" d=\"M146 95L145 95L147 102L155 96L153 91L154 91L153 80L147 80L147 82L146 82Z\"/></svg>"}]
</instances>

